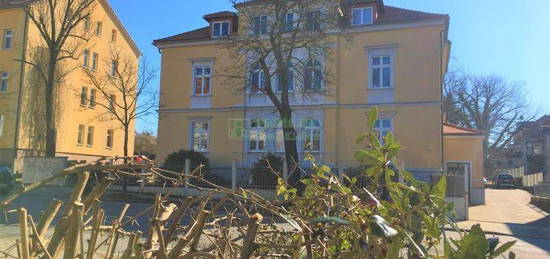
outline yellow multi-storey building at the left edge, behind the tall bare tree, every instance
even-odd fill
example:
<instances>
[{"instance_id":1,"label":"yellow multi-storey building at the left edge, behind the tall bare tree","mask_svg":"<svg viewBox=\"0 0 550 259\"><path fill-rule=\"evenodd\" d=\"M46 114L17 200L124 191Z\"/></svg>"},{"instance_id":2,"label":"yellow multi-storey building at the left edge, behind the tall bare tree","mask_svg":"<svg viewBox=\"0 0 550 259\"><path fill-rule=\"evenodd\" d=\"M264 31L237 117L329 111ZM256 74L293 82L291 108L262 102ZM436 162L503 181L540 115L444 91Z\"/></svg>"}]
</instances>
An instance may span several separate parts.
<instances>
[{"instance_id":1,"label":"yellow multi-storey building at the left edge, behind the tall bare tree","mask_svg":"<svg viewBox=\"0 0 550 259\"><path fill-rule=\"evenodd\" d=\"M102 117L106 109L97 104L108 100L103 100L88 83L82 68L111 69L106 59L113 49L135 58L136 65L141 55L109 3L96 2L92 16L80 28L90 32L90 40L67 43L79 44L81 53L78 60L68 59L61 65L64 71L71 72L60 82L56 96L56 151L58 156L71 160L91 161L123 154L121 125ZM33 55L31 49L40 46L40 35L26 17L24 3L0 1L0 164L6 165L11 165L16 157L39 156L45 150L45 125L41 121L44 118L39 116L43 114L40 109L44 97L40 91L44 91L44 86L30 65L18 61ZM133 128L130 132L133 154Z\"/></svg>"}]
</instances>

